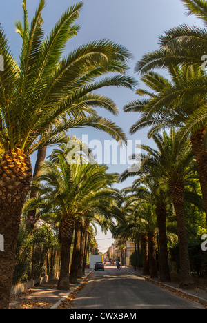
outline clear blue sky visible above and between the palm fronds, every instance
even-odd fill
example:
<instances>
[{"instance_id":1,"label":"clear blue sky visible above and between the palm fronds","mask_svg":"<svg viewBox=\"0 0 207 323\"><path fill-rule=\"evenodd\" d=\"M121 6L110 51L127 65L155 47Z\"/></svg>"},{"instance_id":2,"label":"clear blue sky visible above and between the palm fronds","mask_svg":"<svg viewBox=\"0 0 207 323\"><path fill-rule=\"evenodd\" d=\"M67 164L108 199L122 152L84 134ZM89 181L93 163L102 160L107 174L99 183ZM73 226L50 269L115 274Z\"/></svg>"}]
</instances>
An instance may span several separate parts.
<instances>
[{"instance_id":1,"label":"clear blue sky visible above and between the palm fronds","mask_svg":"<svg viewBox=\"0 0 207 323\"><path fill-rule=\"evenodd\" d=\"M21 0L0 0L0 21L1 26L6 31L10 39L10 48L14 57L19 59L21 48L21 38L15 33L14 21L23 18ZM46 8L43 10L44 30L46 34L50 32L56 21L61 17L64 10L69 6L79 2L76 0L48 0ZM28 0L29 18L32 18L34 10L37 8L39 0ZM195 24L201 26L199 19L193 16L187 16L184 5L180 0L85 0L81 10L78 23L81 30L77 37L68 42L66 53L81 46L83 43L98 39L110 39L116 43L126 46L133 54L133 59L129 62L129 75L134 76L139 81L139 75L135 75L135 63L146 52L156 50L159 35L183 23ZM142 84L139 81L139 86ZM114 117L105 110L99 110L100 115L108 117L115 121L126 133L128 139L135 141L141 140L142 144L151 144L147 138L147 130L141 130L133 136L130 136L128 130L130 126L137 121L138 116L132 113L123 112L123 106L130 101L137 99L135 92L123 88L104 88L99 91L115 101L119 108L119 116ZM81 137L88 135L89 141L99 139L111 139L105 133L92 128L73 130L72 134ZM50 150L49 150L50 151ZM35 156L32 157L34 164ZM124 165L112 166L110 171L121 173L126 169ZM118 187L130 185L132 179L127 180ZM109 235L102 235L98 230L97 242L99 250L104 252L111 245L112 239Z\"/></svg>"}]
</instances>

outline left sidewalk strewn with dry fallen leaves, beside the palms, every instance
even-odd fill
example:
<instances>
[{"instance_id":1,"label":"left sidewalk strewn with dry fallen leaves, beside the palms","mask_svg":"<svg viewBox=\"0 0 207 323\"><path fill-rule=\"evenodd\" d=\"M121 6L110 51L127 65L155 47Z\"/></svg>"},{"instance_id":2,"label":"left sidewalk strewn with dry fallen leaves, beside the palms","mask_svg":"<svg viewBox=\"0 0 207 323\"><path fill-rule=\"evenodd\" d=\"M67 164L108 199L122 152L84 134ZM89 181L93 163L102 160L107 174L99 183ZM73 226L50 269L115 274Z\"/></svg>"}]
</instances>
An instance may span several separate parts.
<instances>
[{"instance_id":1,"label":"left sidewalk strewn with dry fallen leaves, beside the palms","mask_svg":"<svg viewBox=\"0 0 207 323\"><path fill-rule=\"evenodd\" d=\"M78 285L70 284L70 291L59 291L57 289L58 280L52 280L14 295L10 298L10 309L57 309L61 301L76 291L91 272L91 269L86 268L86 275L78 280Z\"/></svg>"}]
</instances>

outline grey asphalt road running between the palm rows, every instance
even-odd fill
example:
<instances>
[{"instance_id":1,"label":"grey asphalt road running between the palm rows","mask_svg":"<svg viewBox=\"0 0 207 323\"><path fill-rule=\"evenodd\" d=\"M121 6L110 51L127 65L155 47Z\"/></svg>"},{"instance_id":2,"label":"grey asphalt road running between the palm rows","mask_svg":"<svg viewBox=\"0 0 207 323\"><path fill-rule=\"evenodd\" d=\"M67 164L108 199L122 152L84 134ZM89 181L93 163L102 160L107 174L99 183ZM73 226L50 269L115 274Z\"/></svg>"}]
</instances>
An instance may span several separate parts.
<instances>
[{"instance_id":1,"label":"grey asphalt road running between the palm rows","mask_svg":"<svg viewBox=\"0 0 207 323\"><path fill-rule=\"evenodd\" d=\"M204 309L115 266L94 271L73 309Z\"/></svg>"}]
</instances>

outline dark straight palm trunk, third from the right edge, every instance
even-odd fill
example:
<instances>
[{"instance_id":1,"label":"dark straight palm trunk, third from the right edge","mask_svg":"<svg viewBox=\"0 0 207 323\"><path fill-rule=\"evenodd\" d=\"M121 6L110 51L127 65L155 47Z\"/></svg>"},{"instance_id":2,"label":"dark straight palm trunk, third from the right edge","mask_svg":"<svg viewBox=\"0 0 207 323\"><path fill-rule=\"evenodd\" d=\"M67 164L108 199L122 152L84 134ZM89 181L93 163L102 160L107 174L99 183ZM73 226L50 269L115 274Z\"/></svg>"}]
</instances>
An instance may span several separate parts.
<instances>
[{"instance_id":1,"label":"dark straight palm trunk, third from the right edge","mask_svg":"<svg viewBox=\"0 0 207 323\"><path fill-rule=\"evenodd\" d=\"M166 235L166 207L157 206L157 226L159 231L159 275L161 282L170 282L170 268L168 262L168 239Z\"/></svg>"}]
</instances>

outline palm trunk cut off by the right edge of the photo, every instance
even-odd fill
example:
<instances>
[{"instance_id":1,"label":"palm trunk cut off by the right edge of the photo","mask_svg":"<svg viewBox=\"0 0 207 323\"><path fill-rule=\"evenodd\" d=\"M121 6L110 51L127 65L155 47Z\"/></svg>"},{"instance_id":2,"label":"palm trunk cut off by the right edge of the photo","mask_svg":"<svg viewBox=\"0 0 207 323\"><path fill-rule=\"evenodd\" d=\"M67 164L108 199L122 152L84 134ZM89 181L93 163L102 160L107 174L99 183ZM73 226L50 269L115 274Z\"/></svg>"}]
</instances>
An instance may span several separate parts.
<instances>
[{"instance_id":1,"label":"palm trunk cut off by the right edge of the photo","mask_svg":"<svg viewBox=\"0 0 207 323\"><path fill-rule=\"evenodd\" d=\"M207 150L204 146L205 133L206 129L199 130L190 137L190 141L192 143L192 149L196 159L197 172L199 174L207 222Z\"/></svg>"}]
</instances>

